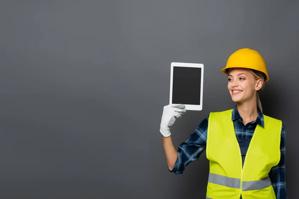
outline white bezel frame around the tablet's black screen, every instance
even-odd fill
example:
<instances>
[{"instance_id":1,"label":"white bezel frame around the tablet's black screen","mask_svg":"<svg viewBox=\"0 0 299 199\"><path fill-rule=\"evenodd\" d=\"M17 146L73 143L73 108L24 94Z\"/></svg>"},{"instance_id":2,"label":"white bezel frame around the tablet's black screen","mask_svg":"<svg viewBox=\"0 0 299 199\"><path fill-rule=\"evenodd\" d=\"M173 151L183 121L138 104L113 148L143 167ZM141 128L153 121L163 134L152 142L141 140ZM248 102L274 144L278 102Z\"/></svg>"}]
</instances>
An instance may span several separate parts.
<instances>
[{"instance_id":1,"label":"white bezel frame around the tablet's black screen","mask_svg":"<svg viewBox=\"0 0 299 199\"><path fill-rule=\"evenodd\" d=\"M172 62L171 63L171 65L170 65L170 94L169 94L169 104L175 104L175 103L172 103L173 67L201 68L200 105L194 105L194 104L184 104L184 105L185 105L185 109L186 110L202 110L203 64L182 63L182 62Z\"/></svg>"}]
</instances>

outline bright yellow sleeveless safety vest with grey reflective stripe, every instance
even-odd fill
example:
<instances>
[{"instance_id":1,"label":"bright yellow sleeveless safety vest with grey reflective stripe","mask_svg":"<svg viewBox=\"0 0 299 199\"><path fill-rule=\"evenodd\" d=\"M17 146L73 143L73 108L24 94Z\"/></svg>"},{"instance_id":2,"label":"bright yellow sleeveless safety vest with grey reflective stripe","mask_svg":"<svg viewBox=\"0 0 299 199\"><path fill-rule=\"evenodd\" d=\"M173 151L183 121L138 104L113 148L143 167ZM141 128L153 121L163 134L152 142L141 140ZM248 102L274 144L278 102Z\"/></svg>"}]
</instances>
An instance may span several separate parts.
<instances>
[{"instance_id":1,"label":"bright yellow sleeveless safety vest with grey reflective stripe","mask_svg":"<svg viewBox=\"0 0 299 199\"><path fill-rule=\"evenodd\" d=\"M280 161L282 121L264 115L264 128L256 126L242 168L231 118L232 109L209 115L207 199L276 199L268 174Z\"/></svg>"}]
</instances>

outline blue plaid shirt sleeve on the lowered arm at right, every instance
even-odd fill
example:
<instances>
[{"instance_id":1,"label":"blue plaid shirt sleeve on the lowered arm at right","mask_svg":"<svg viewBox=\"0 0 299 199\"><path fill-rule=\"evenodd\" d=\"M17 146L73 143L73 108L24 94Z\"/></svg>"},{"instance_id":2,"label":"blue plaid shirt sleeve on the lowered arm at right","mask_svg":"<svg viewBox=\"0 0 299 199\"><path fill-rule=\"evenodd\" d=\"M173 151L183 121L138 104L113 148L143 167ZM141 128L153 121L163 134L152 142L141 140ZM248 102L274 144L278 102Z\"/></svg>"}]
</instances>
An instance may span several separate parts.
<instances>
[{"instance_id":1,"label":"blue plaid shirt sleeve on the lowered arm at right","mask_svg":"<svg viewBox=\"0 0 299 199\"><path fill-rule=\"evenodd\" d=\"M286 127L283 125L281 133L281 159L277 166L272 167L269 177L277 199L287 199L286 192Z\"/></svg>"}]
</instances>

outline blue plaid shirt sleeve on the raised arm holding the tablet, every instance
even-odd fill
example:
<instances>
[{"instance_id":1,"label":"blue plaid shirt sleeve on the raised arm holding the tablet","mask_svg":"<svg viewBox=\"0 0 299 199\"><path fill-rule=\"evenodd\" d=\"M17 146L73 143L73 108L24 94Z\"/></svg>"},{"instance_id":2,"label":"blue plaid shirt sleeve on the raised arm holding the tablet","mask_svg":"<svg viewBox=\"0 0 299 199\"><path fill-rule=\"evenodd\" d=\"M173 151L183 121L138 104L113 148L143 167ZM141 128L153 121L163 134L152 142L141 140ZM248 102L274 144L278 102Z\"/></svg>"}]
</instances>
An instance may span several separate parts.
<instances>
[{"instance_id":1,"label":"blue plaid shirt sleeve on the raised arm holding the tablet","mask_svg":"<svg viewBox=\"0 0 299 199\"><path fill-rule=\"evenodd\" d=\"M171 171L168 169L170 172L177 175L183 174L186 166L196 161L206 149L208 118L209 115L200 122L190 138L179 145L174 168Z\"/></svg>"}]
</instances>

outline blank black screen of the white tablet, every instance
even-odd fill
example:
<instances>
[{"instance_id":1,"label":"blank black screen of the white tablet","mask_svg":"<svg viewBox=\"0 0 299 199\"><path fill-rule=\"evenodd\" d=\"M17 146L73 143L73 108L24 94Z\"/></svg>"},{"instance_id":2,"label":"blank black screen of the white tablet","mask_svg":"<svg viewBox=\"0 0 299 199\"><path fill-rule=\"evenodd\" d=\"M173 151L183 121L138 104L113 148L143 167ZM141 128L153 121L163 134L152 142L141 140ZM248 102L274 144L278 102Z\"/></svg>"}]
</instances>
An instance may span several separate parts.
<instances>
[{"instance_id":1,"label":"blank black screen of the white tablet","mask_svg":"<svg viewBox=\"0 0 299 199\"><path fill-rule=\"evenodd\" d=\"M200 105L201 68L173 67L172 103Z\"/></svg>"}]
</instances>

